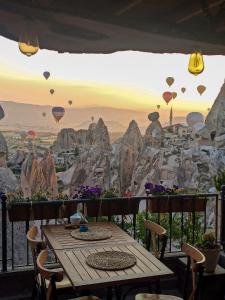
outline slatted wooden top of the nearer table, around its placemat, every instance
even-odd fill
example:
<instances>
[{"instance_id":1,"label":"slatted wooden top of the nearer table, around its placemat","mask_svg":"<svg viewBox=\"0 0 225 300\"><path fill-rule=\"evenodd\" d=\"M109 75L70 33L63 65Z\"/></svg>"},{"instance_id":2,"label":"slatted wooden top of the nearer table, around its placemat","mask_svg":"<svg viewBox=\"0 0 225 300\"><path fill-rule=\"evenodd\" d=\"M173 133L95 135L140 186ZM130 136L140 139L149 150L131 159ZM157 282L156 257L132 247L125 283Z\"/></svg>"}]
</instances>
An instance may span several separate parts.
<instances>
[{"instance_id":1,"label":"slatted wooden top of the nearer table, around its placemat","mask_svg":"<svg viewBox=\"0 0 225 300\"><path fill-rule=\"evenodd\" d=\"M86 264L86 257L91 253L108 250L131 253L137 258L137 264L132 268L121 271L102 271L91 268ZM73 287L77 290L151 281L157 278L170 277L173 274L163 263L135 241L130 244L106 245L96 248L58 249L55 250L55 254Z\"/></svg>"}]
</instances>

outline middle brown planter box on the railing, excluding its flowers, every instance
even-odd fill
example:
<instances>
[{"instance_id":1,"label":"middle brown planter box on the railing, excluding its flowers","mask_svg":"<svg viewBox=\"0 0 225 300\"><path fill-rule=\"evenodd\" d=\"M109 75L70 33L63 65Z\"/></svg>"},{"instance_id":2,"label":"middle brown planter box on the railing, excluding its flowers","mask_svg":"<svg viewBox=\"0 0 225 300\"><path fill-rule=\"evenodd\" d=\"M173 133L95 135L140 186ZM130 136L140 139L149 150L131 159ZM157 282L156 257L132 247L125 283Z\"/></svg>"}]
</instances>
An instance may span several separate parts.
<instances>
[{"instance_id":1,"label":"middle brown planter box on the railing, excluding its flowers","mask_svg":"<svg viewBox=\"0 0 225 300\"><path fill-rule=\"evenodd\" d=\"M101 199L86 202L87 216L115 216L137 214L139 210L139 199Z\"/></svg>"}]
</instances>

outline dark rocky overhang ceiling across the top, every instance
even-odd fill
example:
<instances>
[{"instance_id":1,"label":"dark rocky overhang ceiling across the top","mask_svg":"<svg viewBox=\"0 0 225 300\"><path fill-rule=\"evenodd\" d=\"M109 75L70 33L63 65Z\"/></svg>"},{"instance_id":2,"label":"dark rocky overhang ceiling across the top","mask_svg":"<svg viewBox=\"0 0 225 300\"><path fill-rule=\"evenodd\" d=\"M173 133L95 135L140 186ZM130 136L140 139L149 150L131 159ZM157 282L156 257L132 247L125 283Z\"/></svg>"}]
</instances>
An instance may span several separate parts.
<instances>
[{"instance_id":1,"label":"dark rocky overhang ceiling across the top","mask_svg":"<svg viewBox=\"0 0 225 300\"><path fill-rule=\"evenodd\" d=\"M225 55L224 0L0 0L0 35L27 28L58 52Z\"/></svg>"}]
</instances>

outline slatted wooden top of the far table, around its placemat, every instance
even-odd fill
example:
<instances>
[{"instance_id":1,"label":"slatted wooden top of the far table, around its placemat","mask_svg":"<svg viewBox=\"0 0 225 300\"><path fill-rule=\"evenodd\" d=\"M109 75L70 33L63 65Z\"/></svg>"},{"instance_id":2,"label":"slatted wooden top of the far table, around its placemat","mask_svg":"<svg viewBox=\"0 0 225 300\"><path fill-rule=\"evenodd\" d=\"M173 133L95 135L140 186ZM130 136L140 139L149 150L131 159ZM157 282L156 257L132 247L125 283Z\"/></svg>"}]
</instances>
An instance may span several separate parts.
<instances>
[{"instance_id":1,"label":"slatted wooden top of the far table, around its placemat","mask_svg":"<svg viewBox=\"0 0 225 300\"><path fill-rule=\"evenodd\" d=\"M45 225L42 226L43 234L53 250L76 249L86 247L99 247L105 245L127 244L134 242L134 239L110 222L89 223L90 227L98 226L111 231L112 237L102 241L82 241L71 236L74 229L65 229L64 225Z\"/></svg>"}]
</instances>

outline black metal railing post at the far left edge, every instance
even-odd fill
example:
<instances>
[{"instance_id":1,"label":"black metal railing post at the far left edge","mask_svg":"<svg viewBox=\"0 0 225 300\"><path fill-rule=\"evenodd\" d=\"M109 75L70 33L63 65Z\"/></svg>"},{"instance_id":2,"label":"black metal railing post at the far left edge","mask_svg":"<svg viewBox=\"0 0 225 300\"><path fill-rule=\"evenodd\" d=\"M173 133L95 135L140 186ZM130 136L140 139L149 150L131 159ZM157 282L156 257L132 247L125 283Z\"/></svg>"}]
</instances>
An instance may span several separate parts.
<instances>
[{"instance_id":1,"label":"black metal railing post at the far left edge","mask_svg":"<svg viewBox=\"0 0 225 300\"><path fill-rule=\"evenodd\" d=\"M5 194L1 193L2 200L2 272L7 271L7 208Z\"/></svg>"}]
</instances>

